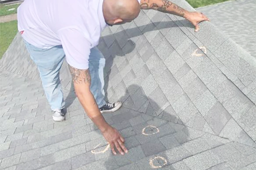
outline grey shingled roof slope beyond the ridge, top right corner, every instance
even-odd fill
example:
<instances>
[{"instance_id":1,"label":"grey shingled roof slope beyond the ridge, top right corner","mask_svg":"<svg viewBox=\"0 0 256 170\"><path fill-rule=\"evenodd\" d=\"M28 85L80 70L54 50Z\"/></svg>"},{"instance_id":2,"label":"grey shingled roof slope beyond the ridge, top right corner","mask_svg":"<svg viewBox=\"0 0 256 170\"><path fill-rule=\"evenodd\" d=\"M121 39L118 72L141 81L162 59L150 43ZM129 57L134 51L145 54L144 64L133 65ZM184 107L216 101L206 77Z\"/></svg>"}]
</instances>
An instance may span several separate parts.
<instances>
[{"instance_id":1,"label":"grey shingled roof slope beyond the ridge, top right corner","mask_svg":"<svg viewBox=\"0 0 256 170\"><path fill-rule=\"evenodd\" d=\"M256 57L256 1L230 0L197 10L230 36L239 46Z\"/></svg>"}]
</instances>

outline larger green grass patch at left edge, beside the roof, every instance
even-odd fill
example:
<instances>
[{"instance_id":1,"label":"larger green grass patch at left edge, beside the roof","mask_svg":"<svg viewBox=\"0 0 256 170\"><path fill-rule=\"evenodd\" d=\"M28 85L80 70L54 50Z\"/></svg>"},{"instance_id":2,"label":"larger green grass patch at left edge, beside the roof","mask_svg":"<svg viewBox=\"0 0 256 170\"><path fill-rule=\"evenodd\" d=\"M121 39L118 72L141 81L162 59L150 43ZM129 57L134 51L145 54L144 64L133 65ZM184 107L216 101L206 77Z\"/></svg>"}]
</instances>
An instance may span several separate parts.
<instances>
[{"instance_id":1,"label":"larger green grass patch at left edge, beside the roof","mask_svg":"<svg viewBox=\"0 0 256 170\"><path fill-rule=\"evenodd\" d=\"M17 21L0 23L0 59L17 34Z\"/></svg>"}]
</instances>

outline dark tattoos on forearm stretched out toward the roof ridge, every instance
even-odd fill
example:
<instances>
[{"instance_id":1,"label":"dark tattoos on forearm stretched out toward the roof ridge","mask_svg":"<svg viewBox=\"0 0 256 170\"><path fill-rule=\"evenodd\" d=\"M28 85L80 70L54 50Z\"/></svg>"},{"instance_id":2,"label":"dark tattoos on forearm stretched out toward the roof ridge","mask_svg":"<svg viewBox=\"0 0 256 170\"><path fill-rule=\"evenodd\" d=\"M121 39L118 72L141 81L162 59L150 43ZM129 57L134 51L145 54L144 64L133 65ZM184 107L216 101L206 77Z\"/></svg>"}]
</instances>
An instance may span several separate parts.
<instances>
[{"instance_id":1,"label":"dark tattoos on forearm stretched out toward the roof ridge","mask_svg":"<svg viewBox=\"0 0 256 170\"><path fill-rule=\"evenodd\" d=\"M171 10L169 7L173 8ZM140 4L140 8L142 9L154 9L157 11L174 14L183 17L185 14L185 10L170 2L169 0L162 0L162 4L159 6L157 3L151 3L150 0L144 0L143 3ZM168 9L169 8L169 9Z\"/></svg>"}]
</instances>

